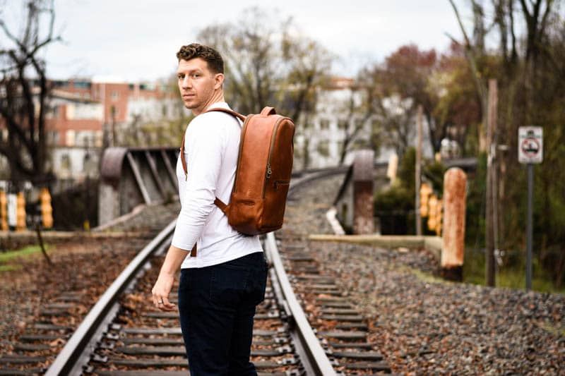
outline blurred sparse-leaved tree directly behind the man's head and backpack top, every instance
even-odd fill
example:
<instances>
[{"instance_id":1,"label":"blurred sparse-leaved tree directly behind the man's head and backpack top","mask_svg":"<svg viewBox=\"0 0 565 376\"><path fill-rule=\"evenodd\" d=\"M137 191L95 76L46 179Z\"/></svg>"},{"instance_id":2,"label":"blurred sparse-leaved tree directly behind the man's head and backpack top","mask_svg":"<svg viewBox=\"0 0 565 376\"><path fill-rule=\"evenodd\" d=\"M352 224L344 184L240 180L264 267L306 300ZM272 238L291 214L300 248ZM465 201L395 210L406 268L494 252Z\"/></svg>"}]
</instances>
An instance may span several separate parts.
<instances>
[{"instance_id":1,"label":"blurred sparse-leaved tree directly behind the man's head and backpack top","mask_svg":"<svg viewBox=\"0 0 565 376\"><path fill-rule=\"evenodd\" d=\"M299 35L290 18L274 20L261 8L242 14L237 23L209 26L197 38L224 56L230 103L244 114L274 106L298 122L313 111L315 87L326 80L333 56Z\"/></svg>"}]
</instances>

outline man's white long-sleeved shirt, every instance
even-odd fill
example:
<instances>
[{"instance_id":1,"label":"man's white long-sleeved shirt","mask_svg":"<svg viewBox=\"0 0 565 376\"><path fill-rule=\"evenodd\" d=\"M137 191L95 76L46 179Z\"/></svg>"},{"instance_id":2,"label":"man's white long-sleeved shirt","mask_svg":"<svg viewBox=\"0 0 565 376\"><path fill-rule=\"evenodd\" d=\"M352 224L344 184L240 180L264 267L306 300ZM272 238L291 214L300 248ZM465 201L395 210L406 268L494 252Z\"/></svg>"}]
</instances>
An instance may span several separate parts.
<instances>
[{"instance_id":1,"label":"man's white long-sleeved shirt","mask_svg":"<svg viewBox=\"0 0 565 376\"><path fill-rule=\"evenodd\" d=\"M230 109L225 102L210 106ZM196 116L186 128L184 160L177 160L181 211L172 245L190 251L197 243L197 255L187 255L182 268L207 267L262 252L258 236L235 231L225 214L214 204L218 197L230 202L234 185L241 123L234 116L209 112ZM186 180L185 180L186 179Z\"/></svg>"}]
</instances>

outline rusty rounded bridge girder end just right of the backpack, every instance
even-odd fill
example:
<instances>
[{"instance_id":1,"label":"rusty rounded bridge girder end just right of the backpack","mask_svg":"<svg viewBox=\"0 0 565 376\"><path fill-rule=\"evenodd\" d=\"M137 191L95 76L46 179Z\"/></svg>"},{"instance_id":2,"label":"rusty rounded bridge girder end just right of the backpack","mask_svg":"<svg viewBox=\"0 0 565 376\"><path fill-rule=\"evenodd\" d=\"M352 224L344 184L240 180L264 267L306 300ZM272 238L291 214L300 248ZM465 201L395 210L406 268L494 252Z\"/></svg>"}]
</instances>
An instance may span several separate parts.
<instances>
[{"instance_id":1,"label":"rusty rounded bridge girder end just right of the backpack","mask_svg":"<svg viewBox=\"0 0 565 376\"><path fill-rule=\"evenodd\" d=\"M353 161L353 234L373 234L373 150L359 150Z\"/></svg>"}]
</instances>

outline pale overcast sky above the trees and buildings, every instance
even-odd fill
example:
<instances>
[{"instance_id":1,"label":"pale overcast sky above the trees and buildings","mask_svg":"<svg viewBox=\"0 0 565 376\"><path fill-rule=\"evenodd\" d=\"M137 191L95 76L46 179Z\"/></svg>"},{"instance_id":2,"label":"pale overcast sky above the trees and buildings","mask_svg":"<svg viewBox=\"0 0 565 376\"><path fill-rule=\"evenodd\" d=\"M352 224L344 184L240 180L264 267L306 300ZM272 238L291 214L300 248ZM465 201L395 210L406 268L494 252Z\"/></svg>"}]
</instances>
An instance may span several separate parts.
<instances>
[{"instance_id":1,"label":"pale overcast sky above the trees and buildings","mask_svg":"<svg viewBox=\"0 0 565 376\"><path fill-rule=\"evenodd\" d=\"M18 27L24 0L0 0L2 17ZM458 3L466 4L463 0ZM47 51L52 78L108 77L138 81L174 72L175 53L194 42L198 30L234 20L245 8L261 6L292 16L304 35L339 56L333 71L355 75L403 44L443 51L446 32L460 37L448 0L55 0L56 30L64 42ZM468 14L468 6L460 11Z\"/></svg>"}]
</instances>

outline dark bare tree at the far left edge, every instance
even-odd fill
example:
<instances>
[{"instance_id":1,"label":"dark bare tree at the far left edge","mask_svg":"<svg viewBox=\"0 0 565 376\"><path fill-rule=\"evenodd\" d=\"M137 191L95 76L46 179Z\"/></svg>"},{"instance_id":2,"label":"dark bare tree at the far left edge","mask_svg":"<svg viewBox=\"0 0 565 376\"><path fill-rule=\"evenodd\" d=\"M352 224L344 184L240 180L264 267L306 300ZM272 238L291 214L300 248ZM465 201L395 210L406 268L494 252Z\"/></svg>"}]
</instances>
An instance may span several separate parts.
<instances>
[{"instance_id":1,"label":"dark bare tree at the far left edge","mask_svg":"<svg viewBox=\"0 0 565 376\"><path fill-rule=\"evenodd\" d=\"M11 45L0 49L0 121L8 131L0 139L0 154L8 159L11 179L41 183L47 179L45 117L49 83L42 51L54 35L53 1L25 2L25 20L21 35L16 36L4 20L0 28ZM47 18L47 35L42 35L42 20Z\"/></svg>"}]
</instances>

